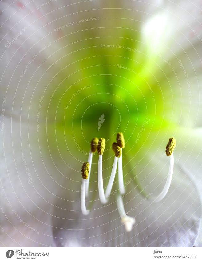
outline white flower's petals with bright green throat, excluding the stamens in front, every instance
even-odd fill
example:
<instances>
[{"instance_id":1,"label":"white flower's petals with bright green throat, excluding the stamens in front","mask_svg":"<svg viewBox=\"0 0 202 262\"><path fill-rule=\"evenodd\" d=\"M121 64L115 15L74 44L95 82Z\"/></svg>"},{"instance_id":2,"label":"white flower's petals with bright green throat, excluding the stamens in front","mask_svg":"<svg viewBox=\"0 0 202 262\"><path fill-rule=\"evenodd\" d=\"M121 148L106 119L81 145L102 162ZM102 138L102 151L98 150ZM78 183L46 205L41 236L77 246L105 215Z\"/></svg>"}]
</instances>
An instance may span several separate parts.
<instances>
[{"instance_id":1,"label":"white flower's petals with bright green throat, excluding the stamens in front","mask_svg":"<svg viewBox=\"0 0 202 262\"><path fill-rule=\"evenodd\" d=\"M201 245L201 7L180 0L1 2L2 245ZM84 217L89 141L106 139L106 189L117 131L126 140L127 216L120 220L115 204L116 177L109 202L100 203L95 155ZM165 185L172 136L171 186L152 203Z\"/></svg>"}]
</instances>

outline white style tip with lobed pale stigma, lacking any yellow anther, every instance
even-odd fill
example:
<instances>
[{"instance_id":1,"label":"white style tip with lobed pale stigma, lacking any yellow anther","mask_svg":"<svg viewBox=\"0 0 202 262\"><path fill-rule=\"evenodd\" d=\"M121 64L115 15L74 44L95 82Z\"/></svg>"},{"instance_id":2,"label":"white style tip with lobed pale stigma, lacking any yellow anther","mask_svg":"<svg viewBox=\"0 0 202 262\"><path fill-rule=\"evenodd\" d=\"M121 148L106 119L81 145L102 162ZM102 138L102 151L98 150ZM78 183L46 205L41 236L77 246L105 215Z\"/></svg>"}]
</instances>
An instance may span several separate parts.
<instances>
[{"instance_id":1,"label":"white style tip with lobed pale stigma, lacking any yellow anther","mask_svg":"<svg viewBox=\"0 0 202 262\"><path fill-rule=\"evenodd\" d=\"M121 217L121 222L125 224L125 230L130 232L135 224L135 218L126 215L121 195L117 196L117 207Z\"/></svg>"}]
</instances>

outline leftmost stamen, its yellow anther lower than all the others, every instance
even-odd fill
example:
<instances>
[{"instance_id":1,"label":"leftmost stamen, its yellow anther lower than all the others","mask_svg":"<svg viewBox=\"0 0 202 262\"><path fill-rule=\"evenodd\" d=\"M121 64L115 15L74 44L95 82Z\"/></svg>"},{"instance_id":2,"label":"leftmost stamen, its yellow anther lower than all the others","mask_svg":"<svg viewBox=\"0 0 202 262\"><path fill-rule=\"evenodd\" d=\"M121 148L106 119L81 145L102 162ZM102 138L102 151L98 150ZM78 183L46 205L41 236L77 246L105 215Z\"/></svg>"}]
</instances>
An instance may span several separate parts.
<instances>
[{"instance_id":1,"label":"leftmost stamen, its yellow anther lower than all the others","mask_svg":"<svg viewBox=\"0 0 202 262\"><path fill-rule=\"evenodd\" d=\"M81 211L84 215L88 215L89 211L86 210L85 206L85 180L88 178L89 163L85 162L81 168L82 183L81 183Z\"/></svg>"}]
</instances>

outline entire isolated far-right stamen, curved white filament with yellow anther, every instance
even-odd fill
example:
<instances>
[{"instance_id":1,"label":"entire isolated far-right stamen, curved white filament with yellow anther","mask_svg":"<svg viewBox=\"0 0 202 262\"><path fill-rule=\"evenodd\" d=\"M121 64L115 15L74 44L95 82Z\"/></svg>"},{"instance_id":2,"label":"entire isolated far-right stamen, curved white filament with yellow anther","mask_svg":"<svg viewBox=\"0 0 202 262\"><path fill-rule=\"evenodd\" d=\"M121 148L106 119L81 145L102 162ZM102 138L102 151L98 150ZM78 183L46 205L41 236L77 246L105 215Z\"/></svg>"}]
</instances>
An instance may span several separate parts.
<instances>
[{"instance_id":1,"label":"entire isolated far-right stamen, curved white filament with yellow anther","mask_svg":"<svg viewBox=\"0 0 202 262\"><path fill-rule=\"evenodd\" d=\"M167 177L167 180L165 182L164 188L161 191L161 193L158 194L156 197L152 196L150 198L155 203L161 201L166 196L166 194L168 193L168 190L170 188L170 184L171 184L171 181L172 181L173 167L174 167L173 150L174 150L175 146L176 146L176 139L174 137L172 137L172 138L169 139L168 145L166 146L166 150L168 149L168 151L165 150L166 155L168 156L168 154L169 154L169 156L170 156L170 166L169 166L169 171L168 171L168 177Z\"/></svg>"}]
</instances>

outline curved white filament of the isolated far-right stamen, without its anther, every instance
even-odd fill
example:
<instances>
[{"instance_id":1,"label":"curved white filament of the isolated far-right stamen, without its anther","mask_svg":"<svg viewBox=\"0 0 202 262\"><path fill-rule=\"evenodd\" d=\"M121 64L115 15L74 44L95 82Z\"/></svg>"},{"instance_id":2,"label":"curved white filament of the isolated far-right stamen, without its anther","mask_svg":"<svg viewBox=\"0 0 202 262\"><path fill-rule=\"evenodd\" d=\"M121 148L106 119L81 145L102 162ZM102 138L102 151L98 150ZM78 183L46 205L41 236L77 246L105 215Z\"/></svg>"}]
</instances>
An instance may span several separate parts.
<instances>
[{"instance_id":1,"label":"curved white filament of the isolated far-right stamen, without its anther","mask_svg":"<svg viewBox=\"0 0 202 262\"><path fill-rule=\"evenodd\" d=\"M171 184L171 181L172 181L173 167L174 167L174 156L173 156L173 153L172 153L172 155L170 156L170 166L169 166L169 171L168 171L168 177L167 177L167 180L165 182L164 188L161 191L161 193L158 194L156 197L152 196L152 198L150 198L153 202L161 201L166 196L166 194L168 193L168 189L170 188L170 184Z\"/></svg>"}]
</instances>

